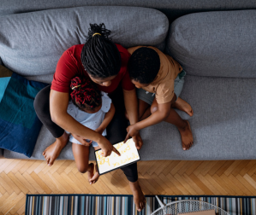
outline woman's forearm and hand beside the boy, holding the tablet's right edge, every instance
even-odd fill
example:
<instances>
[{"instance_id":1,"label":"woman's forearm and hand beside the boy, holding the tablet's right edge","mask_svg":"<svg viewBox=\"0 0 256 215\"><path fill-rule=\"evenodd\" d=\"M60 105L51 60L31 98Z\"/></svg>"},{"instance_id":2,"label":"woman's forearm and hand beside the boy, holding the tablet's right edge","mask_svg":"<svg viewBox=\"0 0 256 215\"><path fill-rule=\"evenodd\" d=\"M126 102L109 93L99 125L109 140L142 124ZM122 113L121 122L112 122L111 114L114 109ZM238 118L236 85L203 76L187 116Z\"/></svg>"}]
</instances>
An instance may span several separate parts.
<instances>
[{"instance_id":1,"label":"woman's forearm and hand beside the boy, holding the tablet's right edge","mask_svg":"<svg viewBox=\"0 0 256 215\"><path fill-rule=\"evenodd\" d=\"M123 99L130 125L134 125L139 121L138 99L136 95L136 90L123 90ZM134 139L136 148L140 149L143 145L140 133L138 132L136 135L131 137L133 137Z\"/></svg>"}]
</instances>

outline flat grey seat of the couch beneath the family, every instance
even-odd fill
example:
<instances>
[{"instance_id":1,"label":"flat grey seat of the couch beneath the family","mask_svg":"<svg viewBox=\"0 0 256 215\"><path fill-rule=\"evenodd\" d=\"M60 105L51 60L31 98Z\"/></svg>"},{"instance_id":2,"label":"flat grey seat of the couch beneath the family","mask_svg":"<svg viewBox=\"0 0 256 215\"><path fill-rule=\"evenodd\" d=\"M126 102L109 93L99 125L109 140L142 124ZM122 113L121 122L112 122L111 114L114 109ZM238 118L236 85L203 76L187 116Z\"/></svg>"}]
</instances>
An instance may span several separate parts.
<instances>
[{"instance_id":1,"label":"flat grey seat of the couch beneath the family","mask_svg":"<svg viewBox=\"0 0 256 215\"><path fill-rule=\"evenodd\" d=\"M253 160L255 159L256 106L255 78L217 78L187 75L181 97L193 107L193 117L177 112L188 119L194 144L182 150L179 131L174 125L162 122L142 131L144 146L141 160ZM215 90L212 90L215 89ZM237 95L237 89L239 94ZM54 138L45 126L40 131L32 159L44 160L45 142ZM26 159L26 156L4 150L6 158ZM71 143L63 149L61 160L74 160ZM90 160L95 160L91 148Z\"/></svg>"}]
</instances>

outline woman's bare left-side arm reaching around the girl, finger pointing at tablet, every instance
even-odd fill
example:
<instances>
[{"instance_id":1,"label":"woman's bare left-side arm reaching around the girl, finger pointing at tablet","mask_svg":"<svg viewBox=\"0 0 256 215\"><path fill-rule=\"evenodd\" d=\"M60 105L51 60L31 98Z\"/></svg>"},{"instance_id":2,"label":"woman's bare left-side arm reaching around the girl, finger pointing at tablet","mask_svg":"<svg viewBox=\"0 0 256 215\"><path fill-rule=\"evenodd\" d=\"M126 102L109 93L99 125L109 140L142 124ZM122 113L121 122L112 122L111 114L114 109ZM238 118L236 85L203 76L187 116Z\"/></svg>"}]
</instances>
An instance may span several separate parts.
<instances>
[{"instance_id":1,"label":"woman's bare left-side arm reaching around the girl, finger pointing at tablet","mask_svg":"<svg viewBox=\"0 0 256 215\"><path fill-rule=\"evenodd\" d=\"M50 113L52 121L70 133L98 142L98 145L102 148L104 157L109 156L112 151L120 155L116 148L114 148L105 137L81 125L67 113L68 101L68 93L51 90Z\"/></svg>"}]
</instances>

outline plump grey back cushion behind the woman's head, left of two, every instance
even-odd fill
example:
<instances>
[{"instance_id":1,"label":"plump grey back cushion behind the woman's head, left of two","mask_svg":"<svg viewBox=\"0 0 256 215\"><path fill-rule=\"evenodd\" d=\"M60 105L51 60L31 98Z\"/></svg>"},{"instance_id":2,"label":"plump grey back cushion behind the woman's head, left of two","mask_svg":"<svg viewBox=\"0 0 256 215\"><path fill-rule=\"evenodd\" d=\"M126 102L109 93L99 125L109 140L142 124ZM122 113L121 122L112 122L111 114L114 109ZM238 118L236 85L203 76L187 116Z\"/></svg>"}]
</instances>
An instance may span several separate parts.
<instances>
[{"instance_id":1,"label":"plump grey back cushion behind the woman's head, left of two","mask_svg":"<svg viewBox=\"0 0 256 215\"><path fill-rule=\"evenodd\" d=\"M124 47L153 45L164 50L169 20L156 9L79 7L51 9L0 20L0 58L25 76L55 72L63 51L85 44L90 23L104 23L113 42Z\"/></svg>"}]
</instances>

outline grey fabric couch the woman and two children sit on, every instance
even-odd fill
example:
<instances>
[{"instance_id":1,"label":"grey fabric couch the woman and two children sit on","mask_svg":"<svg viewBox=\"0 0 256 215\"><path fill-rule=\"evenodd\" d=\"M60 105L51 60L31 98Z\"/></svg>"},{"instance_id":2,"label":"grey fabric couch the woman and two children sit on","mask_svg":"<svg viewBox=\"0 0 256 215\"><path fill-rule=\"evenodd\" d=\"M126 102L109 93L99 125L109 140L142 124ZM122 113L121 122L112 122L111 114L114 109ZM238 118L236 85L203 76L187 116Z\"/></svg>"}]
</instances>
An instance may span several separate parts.
<instances>
[{"instance_id":1,"label":"grey fabric couch the woman and two children sit on","mask_svg":"<svg viewBox=\"0 0 256 215\"><path fill-rule=\"evenodd\" d=\"M141 160L256 158L256 10L251 10L255 7L253 1L244 4L247 10L196 13L174 21L169 21L171 15L168 20L157 9L122 6L51 9L59 6L51 7L50 1L45 2L46 8L32 4L18 9L16 4L7 2L1 7L0 63L5 67L28 79L51 83L63 51L74 44L85 43L89 23L104 22L112 31L114 42L126 48L140 44L156 46L179 61L188 74L181 97L191 104L194 115L190 118L186 113L177 112L191 124L193 147L183 151L176 127L163 122L140 132L144 140ZM148 3L142 6L150 7L153 2ZM236 3L235 9L244 9ZM63 7L69 6L74 5L63 3ZM228 8L233 7L230 4ZM47 10L8 15L31 9ZM178 10L174 7L169 11L171 9ZM183 8L182 13L184 11ZM52 142L54 138L43 126L31 159L44 160L42 152ZM5 158L27 159L8 150L1 153ZM59 159L74 160L70 142ZM94 160L92 153L90 160Z\"/></svg>"}]
</instances>

